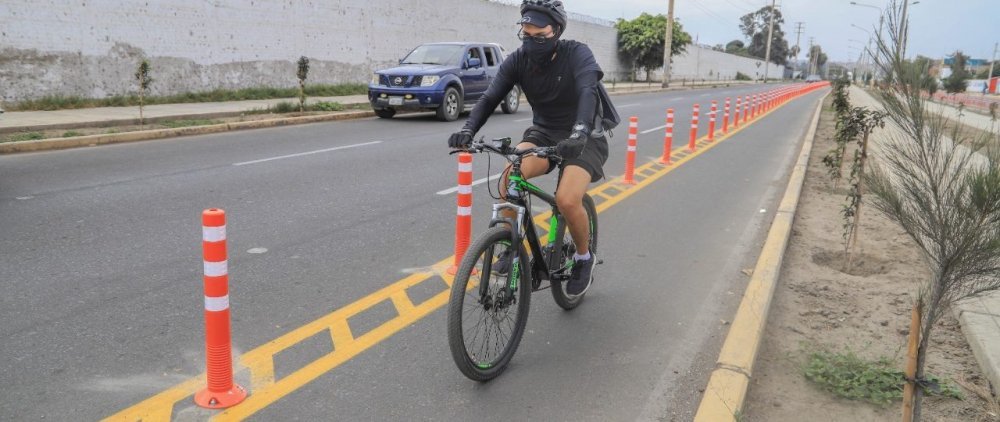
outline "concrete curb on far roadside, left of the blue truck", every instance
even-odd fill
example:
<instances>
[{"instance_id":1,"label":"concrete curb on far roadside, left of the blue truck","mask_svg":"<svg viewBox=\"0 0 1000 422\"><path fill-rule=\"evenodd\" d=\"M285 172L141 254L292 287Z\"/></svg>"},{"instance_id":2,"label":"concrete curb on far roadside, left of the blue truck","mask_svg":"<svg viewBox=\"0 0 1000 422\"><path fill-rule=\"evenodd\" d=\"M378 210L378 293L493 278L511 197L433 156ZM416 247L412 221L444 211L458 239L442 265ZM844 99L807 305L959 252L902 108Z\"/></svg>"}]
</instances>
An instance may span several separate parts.
<instances>
[{"instance_id":1,"label":"concrete curb on far roadside, left of the blue truck","mask_svg":"<svg viewBox=\"0 0 1000 422\"><path fill-rule=\"evenodd\" d=\"M356 111L335 114L320 114L316 116L286 117L281 119L254 120L249 122L233 122L218 125L183 127L176 129L141 130L135 132L115 133L106 135L75 136L72 138L40 139L37 141L5 142L0 144L0 154L16 152L47 151L84 146L116 144L120 142L146 141L150 139L173 138L177 136L207 135L210 133L229 132L233 130L261 129L277 126L298 125L305 123L330 122L336 120L360 119L372 117L374 111Z\"/></svg>"}]
</instances>

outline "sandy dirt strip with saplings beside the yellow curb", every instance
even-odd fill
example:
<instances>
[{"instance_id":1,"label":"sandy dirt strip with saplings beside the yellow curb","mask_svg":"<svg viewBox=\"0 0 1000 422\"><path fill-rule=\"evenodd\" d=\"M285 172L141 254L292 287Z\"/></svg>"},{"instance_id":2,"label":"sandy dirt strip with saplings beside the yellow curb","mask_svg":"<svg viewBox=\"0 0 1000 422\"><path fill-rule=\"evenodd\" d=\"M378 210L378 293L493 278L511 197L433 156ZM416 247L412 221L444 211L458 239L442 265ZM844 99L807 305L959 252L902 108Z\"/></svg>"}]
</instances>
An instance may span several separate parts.
<instances>
[{"instance_id":1,"label":"sandy dirt strip with saplings beside the yellow curb","mask_svg":"<svg viewBox=\"0 0 1000 422\"><path fill-rule=\"evenodd\" d=\"M741 421L895 421L901 402L880 407L841 399L803 375L808 350L849 347L903 368L910 310L928 276L919 250L892 221L861 209L861 256L853 274L844 264L843 218L847 182L835 188L822 159L833 148L832 96L816 132L805 186L768 317L764 343ZM850 153L848 156L853 156ZM846 163L845 163L846 164ZM849 170L845 165L845 173ZM931 333L927 371L943 380L989 391L958 321L948 313ZM925 398L925 421L988 421L989 404L959 387L965 399Z\"/></svg>"}]
</instances>

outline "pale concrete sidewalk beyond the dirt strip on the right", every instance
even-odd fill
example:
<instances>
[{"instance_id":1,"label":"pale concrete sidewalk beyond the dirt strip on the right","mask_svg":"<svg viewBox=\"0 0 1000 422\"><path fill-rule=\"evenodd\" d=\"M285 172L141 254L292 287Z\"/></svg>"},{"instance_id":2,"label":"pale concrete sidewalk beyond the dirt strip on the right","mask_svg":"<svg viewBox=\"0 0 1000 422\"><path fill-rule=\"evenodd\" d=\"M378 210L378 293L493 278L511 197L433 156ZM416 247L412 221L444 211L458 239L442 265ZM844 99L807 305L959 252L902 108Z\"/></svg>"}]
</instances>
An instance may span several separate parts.
<instances>
[{"instance_id":1,"label":"pale concrete sidewalk beyond the dirt strip on the right","mask_svg":"<svg viewBox=\"0 0 1000 422\"><path fill-rule=\"evenodd\" d=\"M861 88L852 86L850 95L851 103L855 106L882 109L878 101ZM931 104L931 107L933 106L934 104ZM954 107L940 105L938 107L936 111L944 113L945 117L957 118L958 110ZM965 113L962 116L962 123L982 130L998 127L989 117L975 113ZM887 129L895 128L887 126ZM959 302L954 312L983 374L993 384L994 389L1000 388L1000 291L984 293Z\"/></svg>"}]
</instances>

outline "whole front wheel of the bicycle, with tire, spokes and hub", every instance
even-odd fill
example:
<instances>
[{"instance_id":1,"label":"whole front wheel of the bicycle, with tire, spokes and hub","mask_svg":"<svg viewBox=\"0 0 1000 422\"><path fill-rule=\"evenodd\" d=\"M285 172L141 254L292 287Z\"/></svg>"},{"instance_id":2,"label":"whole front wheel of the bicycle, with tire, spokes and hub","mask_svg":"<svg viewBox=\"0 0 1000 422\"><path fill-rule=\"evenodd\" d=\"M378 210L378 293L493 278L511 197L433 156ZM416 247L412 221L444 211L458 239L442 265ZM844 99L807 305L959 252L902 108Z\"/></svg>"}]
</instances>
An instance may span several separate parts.
<instances>
[{"instance_id":1,"label":"whole front wheel of the bicycle, with tire, spokes and hub","mask_svg":"<svg viewBox=\"0 0 1000 422\"><path fill-rule=\"evenodd\" d=\"M531 269L523 245L514 248L510 239L507 227L487 230L469 246L451 286L448 346L458 369L475 381L506 369L528 322ZM511 265L500 275L494 264L504 253L512 254Z\"/></svg>"}]
</instances>

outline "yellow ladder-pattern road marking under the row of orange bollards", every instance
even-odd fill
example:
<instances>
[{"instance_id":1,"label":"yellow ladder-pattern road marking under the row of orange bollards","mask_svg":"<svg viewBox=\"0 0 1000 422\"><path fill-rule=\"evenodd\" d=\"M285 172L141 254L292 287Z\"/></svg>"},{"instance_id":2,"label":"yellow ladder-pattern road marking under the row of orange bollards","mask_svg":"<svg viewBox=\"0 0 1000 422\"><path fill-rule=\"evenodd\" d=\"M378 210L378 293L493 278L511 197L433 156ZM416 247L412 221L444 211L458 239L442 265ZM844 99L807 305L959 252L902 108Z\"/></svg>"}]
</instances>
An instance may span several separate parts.
<instances>
[{"instance_id":1,"label":"yellow ladder-pattern road marking under the row of orange bollards","mask_svg":"<svg viewBox=\"0 0 1000 422\"><path fill-rule=\"evenodd\" d=\"M635 185L626 185L621 183L621 178L614 178L597 187L594 187L593 189L590 189L587 193L591 196L605 199L604 202L597 206L597 212L601 213L621 202L625 198L632 196L635 192L638 192L643 187L648 186L667 173L670 173L674 169L680 167L682 164L690 161L694 157L711 150L715 147L715 145L729 139L733 135L742 131L744 128L750 126L750 124L778 110L779 108L784 107L790 102L791 101L780 104L766 113L758 114L757 117L748 120L745 124L741 124L738 128L731 129L727 134L717 133L714 142L706 143L695 152L689 152L687 150L687 145L674 149L671 151L672 164L670 165L660 164L659 160L656 159L637 167L635 171L641 175L643 179ZM705 139L705 137L702 137L700 141L704 141ZM683 157L681 157L682 155ZM644 172L647 171L652 174L646 176ZM543 229L547 231L548 219L551 215L551 211L541 213L534 218L534 222L536 225L543 227ZM547 242L546 236L539 237L539 240L543 244ZM215 415L213 420L228 421L245 419L246 417L267 407L271 403L274 403L278 399L288 395L292 391L301 388L303 385L333 370L340 364L364 352L371 346L378 344L403 328L406 328L414 322L422 319L424 316L437 310L441 306L444 306L448 303L450 287L454 281L454 277L448 275L445 270L452 264L452 262L454 262L454 255L432 265L431 271L411 274L410 276L379 289L368 296L358 299L353 303L322 316L315 321L309 322L274 340L271 340L256 349L245 352L238 359L237 371L238 373L242 373L243 371L250 372L251 394L247 396L247 399L239 405L233 406ZM406 293L406 289L419 285L426 280L435 277L444 281L449 288L434 295L419 305L414 304L410 300L409 295ZM351 333L348 318L386 300L393 304L398 312L398 315L371 331L361 335L360 337L355 338ZM330 339L334 345L333 351L281 378L280 380L276 380L274 375L274 356L279 352L323 331L329 332ZM205 374L201 374L114 415L111 415L104 420L142 420L146 422L169 421L172 416L174 405L181 400L190 399L196 391L204 388L204 386Z\"/></svg>"}]
</instances>

